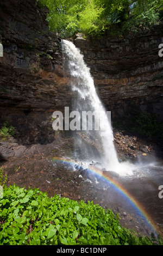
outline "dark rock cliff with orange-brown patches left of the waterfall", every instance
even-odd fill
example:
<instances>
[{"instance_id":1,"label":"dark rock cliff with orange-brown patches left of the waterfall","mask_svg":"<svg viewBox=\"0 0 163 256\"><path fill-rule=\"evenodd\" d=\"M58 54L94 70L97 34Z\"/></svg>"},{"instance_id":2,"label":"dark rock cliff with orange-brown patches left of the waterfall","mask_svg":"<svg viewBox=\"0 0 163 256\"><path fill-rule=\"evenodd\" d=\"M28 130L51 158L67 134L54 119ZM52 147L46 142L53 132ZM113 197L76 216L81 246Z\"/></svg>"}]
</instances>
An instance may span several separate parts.
<instances>
[{"instance_id":1,"label":"dark rock cliff with orange-brown patches left of the waterfall","mask_svg":"<svg viewBox=\"0 0 163 256\"><path fill-rule=\"evenodd\" d=\"M52 113L70 102L61 39L48 31L48 9L35 0L0 5L0 124L8 120L22 143L52 141Z\"/></svg>"}]
</instances>

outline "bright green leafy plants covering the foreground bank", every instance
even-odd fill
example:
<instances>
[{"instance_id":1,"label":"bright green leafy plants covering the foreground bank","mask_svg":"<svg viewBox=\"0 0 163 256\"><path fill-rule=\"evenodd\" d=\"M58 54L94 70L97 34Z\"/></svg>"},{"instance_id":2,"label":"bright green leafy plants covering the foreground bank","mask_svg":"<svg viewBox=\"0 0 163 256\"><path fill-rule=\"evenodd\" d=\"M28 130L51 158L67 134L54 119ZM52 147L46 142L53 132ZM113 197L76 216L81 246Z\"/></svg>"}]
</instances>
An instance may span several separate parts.
<instances>
[{"instance_id":1,"label":"bright green leafy plants covering the foreground bank","mask_svg":"<svg viewBox=\"0 0 163 256\"><path fill-rule=\"evenodd\" d=\"M153 245L159 236L139 237L123 228L118 215L55 195L5 187L0 198L0 245Z\"/></svg>"}]
</instances>

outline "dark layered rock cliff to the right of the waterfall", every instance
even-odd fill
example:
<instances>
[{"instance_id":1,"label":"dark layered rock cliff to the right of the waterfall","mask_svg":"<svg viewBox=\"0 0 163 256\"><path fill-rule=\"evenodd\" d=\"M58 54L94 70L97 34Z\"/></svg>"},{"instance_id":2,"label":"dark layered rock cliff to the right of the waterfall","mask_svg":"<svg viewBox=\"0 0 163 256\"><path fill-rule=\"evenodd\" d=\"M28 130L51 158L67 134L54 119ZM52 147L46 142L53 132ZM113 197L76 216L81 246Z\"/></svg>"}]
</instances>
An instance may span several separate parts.
<instances>
[{"instance_id":1,"label":"dark layered rock cliff to the right of the waterfall","mask_svg":"<svg viewBox=\"0 0 163 256\"><path fill-rule=\"evenodd\" d=\"M163 120L163 59L158 54L162 34L163 24L122 39L110 39L107 33L102 39L74 39L112 118L147 111Z\"/></svg>"}]
</instances>

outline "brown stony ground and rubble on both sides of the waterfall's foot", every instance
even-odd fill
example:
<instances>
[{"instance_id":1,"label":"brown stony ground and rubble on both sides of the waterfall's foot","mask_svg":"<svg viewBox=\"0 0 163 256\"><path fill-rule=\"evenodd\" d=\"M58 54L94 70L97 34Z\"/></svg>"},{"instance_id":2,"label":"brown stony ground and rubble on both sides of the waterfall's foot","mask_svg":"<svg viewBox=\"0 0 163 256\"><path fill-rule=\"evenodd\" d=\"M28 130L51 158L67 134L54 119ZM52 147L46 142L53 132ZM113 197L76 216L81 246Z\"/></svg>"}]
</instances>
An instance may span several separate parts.
<instances>
[{"instance_id":1,"label":"brown stony ground and rubble on both sides of the waterfall's foot","mask_svg":"<svg viewBox=\"0 0 163 256\"><path fill-rule=\"evenodd\" d=\"M156 144L125 135L124 131L118 130L114 130L114 144L121 161L152 156L159 149ZM49 144L21 145L14 138L8 141L1 139L0 163L8 175L7 186L15 183L27 189L39 188L47 192L49 197L60 194L61 197L78 201L93 201L105 209L111 209L115 214L118 212L120 223L124 227L135 229L140 234L151 235L152 230L140 217L135 216L126 206L117 204L112 198L106 180L97 180L95 175L83 168L72 168L71 161L67 161L67 164L58 161L62 157L72 160L73 150L73 138L64 137L61 133Z\"/></svg>"}]
</instances>

